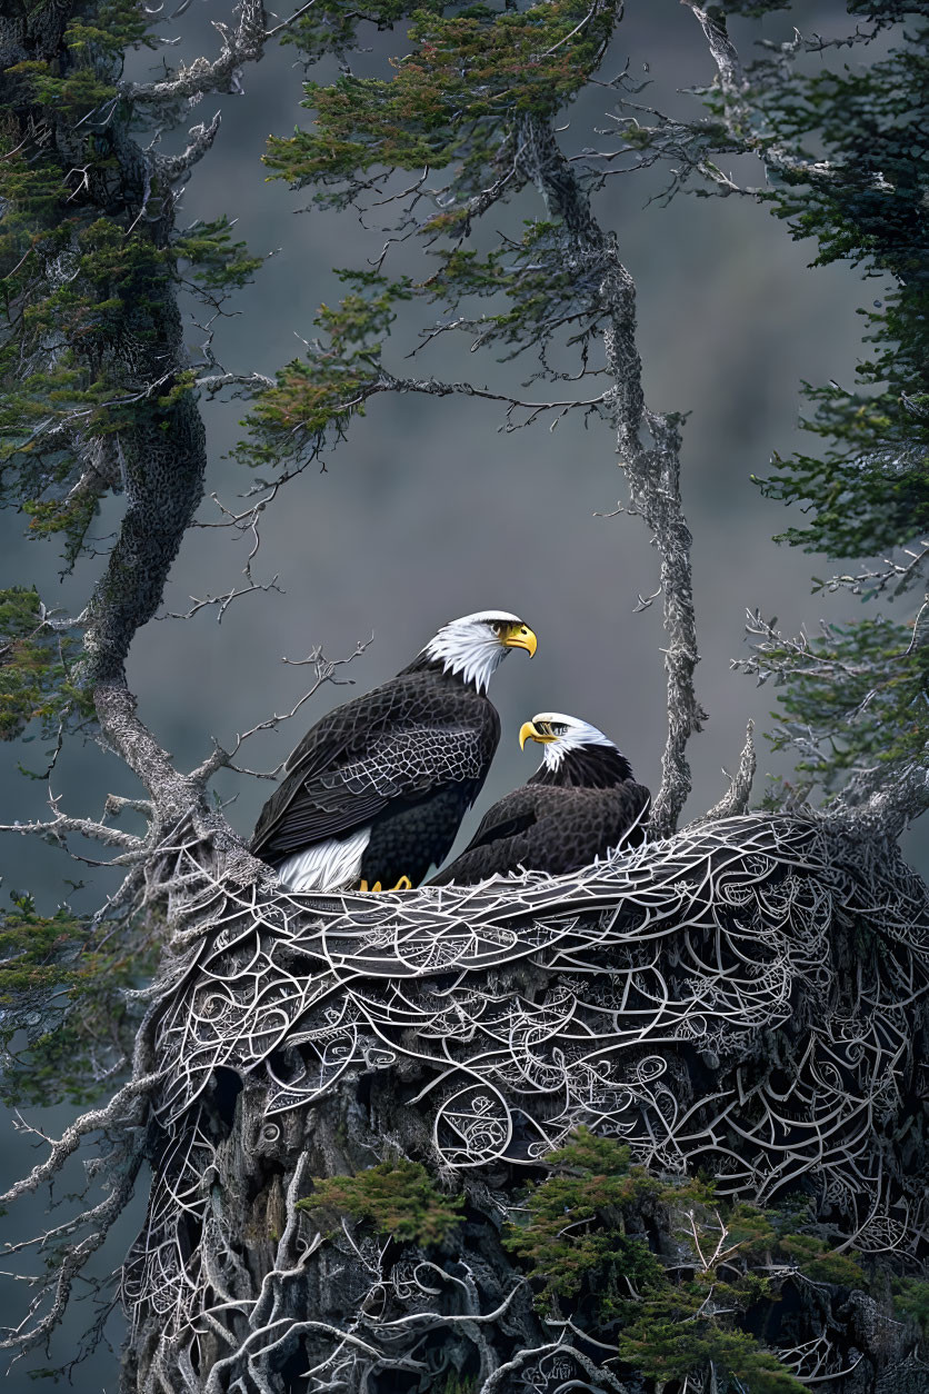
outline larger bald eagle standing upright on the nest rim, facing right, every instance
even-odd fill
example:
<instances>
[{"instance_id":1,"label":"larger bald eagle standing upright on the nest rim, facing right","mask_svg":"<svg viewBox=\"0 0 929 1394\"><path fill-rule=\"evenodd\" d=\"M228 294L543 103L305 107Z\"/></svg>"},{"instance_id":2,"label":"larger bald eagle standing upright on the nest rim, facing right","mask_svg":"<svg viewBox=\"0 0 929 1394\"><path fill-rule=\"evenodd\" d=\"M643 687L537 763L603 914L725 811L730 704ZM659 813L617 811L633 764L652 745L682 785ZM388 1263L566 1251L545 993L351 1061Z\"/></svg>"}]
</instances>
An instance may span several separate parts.
<instances>
[{"instance_id":1,"label":"larger bald eagle standing upright on the nest rim, facing right","mask_svg":"<svg viewBox=\"0 0 929 1394\"><path fill-rule=\"evenodd\" d=\"M443 625L390 682L327 712L284 765L252 852L291 891L419 885L476 799L500 739L487 683L532 630L506 611Z\"/></svg>"}]
</instances>

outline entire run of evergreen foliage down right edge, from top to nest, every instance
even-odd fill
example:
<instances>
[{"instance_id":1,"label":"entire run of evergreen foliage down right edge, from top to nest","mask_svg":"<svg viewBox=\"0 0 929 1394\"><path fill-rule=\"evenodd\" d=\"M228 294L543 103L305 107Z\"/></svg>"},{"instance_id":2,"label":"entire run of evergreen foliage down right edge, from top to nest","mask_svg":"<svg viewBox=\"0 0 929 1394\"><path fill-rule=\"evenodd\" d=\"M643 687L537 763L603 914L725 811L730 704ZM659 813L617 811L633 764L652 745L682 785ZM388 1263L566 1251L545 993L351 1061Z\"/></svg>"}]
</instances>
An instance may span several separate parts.
<instances>
[{"instance_id":1,"label":"entire run of evergreen foliage down right edge, from top to nest","mask_svg":"<svg viewBox=\"0 0 929 1394\"><path fill-rule=\"evenodd\" d=\"M720 11L751 15L758 6ZM848 262L873 287L872 307L859 311L858 382L805 385L812 410L801 424L816 447L788 460L774 453L759 481L802 514L781 539L858 563L858 574L815 579L815 590L844 587L862 602L918 592L908 620L882 609L829 625L799 650L774 637L745 665L783 684L774 746L797 749L798 771L829 792L850 772L887 778L921 764L929 742L925 645L911 643L929 584L929 17L898 0L850 3L848 13L868 21L858 42L822 46L812 71L799 60L816 52L813 40L749 64L738 118L721 84L705 93L728 149L765 163L762 197L791 236L815 240L812 265ZM873 39L886 49L877 59ZM911 549L903 565L869 563L898 548Z\"/></svg>"}]
</instances>

